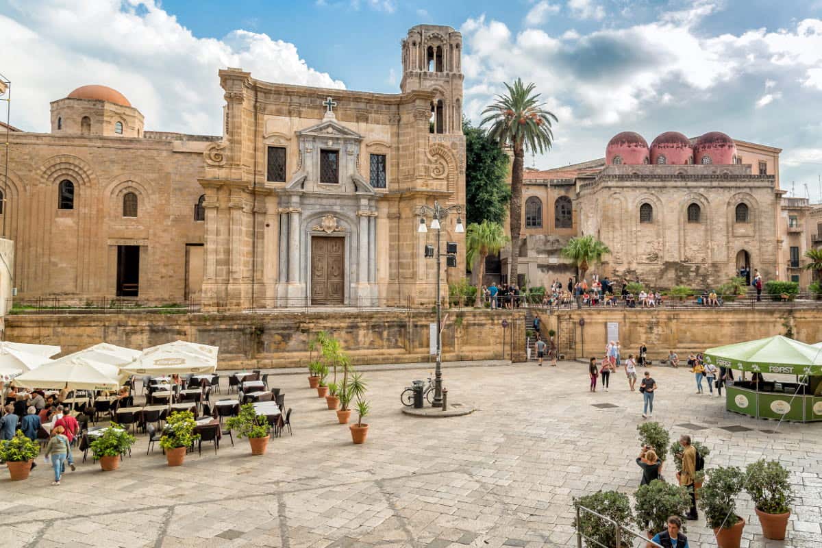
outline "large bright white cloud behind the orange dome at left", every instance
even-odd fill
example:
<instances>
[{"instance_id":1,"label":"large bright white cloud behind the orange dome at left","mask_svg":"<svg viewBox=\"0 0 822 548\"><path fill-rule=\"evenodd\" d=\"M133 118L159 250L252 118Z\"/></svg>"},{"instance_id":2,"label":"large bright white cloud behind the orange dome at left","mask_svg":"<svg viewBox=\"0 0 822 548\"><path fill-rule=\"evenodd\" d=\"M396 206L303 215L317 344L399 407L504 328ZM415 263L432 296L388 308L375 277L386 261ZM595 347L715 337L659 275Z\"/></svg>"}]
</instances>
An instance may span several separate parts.
<instances>
[{"instance_id":1,"label":"large bright white cloud behind the orange dome at left","mask_svg":"<svg viewBox=\"0 0 822 548\"><path fill-rule=\"evenodd\" d=\"M48 103L85 84L125 94L146 128L220 132L224 103L217 71L242 67L265 81L344 88L308 67L297 47L234 30L198 38L154 0L15 2L0 15L3 73L16 90L12 123L48 131Z\"/></svg>"}]
</instances>

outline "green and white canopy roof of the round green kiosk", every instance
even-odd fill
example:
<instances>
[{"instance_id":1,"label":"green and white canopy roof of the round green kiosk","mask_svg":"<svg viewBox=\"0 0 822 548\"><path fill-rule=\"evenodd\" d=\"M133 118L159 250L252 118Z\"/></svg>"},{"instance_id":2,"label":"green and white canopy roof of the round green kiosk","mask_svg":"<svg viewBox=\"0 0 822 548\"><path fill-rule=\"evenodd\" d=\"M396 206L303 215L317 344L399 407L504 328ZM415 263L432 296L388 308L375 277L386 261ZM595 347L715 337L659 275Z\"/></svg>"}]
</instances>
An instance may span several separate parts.
<instances>
[{"instance_id":1,"label":"green and white canopy roof of the round green kiosk","mask_svg":"<svg viewBox=\"0 0 822 548\"><path fill-rule=\"evenodd\" d=\"M704 352L704 361L758 373L822 375L820 347L782 335L709 348Z\"/></svg>"}]
</instances>

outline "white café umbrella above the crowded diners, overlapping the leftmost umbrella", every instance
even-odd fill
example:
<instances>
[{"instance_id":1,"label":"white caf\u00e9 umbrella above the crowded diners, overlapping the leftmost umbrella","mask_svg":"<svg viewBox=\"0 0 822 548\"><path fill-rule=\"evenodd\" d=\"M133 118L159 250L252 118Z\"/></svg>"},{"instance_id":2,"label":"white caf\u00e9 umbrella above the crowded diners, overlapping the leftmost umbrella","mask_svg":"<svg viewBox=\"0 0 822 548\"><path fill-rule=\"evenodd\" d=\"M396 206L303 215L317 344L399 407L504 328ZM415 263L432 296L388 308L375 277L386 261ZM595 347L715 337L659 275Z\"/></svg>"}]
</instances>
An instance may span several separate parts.
<instances>
[{"instance_id":1,"label":"white caf\u00e9 umbrella above the crowded diners, overlapping the leftmost umbrella","mask_svg":"<svg viewBox=\"0 0 822 548\"><path fill-rule=\"evenodd\" d=\"M66 356L23 373L14 381L25 388L116 390L120 374L117 366Z\"/></svg>"}]
</instances>

